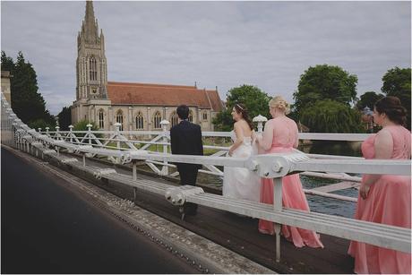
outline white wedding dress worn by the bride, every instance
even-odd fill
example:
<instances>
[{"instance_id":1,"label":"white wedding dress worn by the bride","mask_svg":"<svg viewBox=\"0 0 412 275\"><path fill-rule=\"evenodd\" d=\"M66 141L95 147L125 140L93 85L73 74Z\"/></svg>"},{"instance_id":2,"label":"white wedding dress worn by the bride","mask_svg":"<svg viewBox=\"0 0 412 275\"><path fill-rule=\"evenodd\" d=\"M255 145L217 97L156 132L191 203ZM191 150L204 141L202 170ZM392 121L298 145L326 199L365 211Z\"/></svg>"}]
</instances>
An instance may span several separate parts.
<instances>
[{"instance_id":1,"label":"white wedding dress worn by the bride","mask_svg":"<svg viewBox=\"0 0 412 275\"><path fill-rule=\"evenodd\" d=\"M230 137L236 142L235 131L230 132ZM257 146L252 143L251 137L245 137L232 157L248 158L253 154L257 154ZM229 198L260 202L261 178L247 168L225 167L222 193Z\"/></svg>"}]
</instances>

